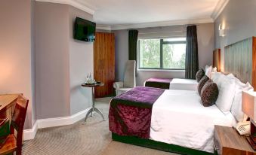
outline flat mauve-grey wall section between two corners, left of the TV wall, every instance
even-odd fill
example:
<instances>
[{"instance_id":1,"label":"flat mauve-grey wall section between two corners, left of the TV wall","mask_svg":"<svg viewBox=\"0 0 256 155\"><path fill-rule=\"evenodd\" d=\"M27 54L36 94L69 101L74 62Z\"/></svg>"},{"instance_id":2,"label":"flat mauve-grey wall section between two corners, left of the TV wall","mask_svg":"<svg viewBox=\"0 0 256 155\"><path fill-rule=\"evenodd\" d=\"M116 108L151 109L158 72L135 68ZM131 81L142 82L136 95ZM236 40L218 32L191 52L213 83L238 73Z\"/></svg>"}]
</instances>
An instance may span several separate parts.
<instances>
[{"instance_id":1,"label":"flat mauve-grey wall section between two corners, left of the TV wall","mask_svg":"<svg viewBox=\"0 0 256 155\"><path fill-rule=\"evenodd\" d=\"M37 119L70 115L68 19L68 5L35 2Z\"/></svg>"}]
</instances>

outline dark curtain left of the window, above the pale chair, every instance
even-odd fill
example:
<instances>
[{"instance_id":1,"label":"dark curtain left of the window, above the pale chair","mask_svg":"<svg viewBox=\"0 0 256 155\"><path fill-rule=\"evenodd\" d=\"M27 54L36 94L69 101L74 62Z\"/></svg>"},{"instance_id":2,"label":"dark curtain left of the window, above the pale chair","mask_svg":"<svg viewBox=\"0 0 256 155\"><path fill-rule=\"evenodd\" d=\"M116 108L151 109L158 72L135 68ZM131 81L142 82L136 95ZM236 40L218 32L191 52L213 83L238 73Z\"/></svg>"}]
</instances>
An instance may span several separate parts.
<instances>
[{"instance_id":1,"label":"dark curtain left of the window, above the pale chair","mask_svg":"<svg viewBox=\"0 0 256 155\"><path fill-rule=\"evenodd\" d=\"M129 60L136 60L137 63L137 30L129 30Z\"/></svg>"}]
</instances>

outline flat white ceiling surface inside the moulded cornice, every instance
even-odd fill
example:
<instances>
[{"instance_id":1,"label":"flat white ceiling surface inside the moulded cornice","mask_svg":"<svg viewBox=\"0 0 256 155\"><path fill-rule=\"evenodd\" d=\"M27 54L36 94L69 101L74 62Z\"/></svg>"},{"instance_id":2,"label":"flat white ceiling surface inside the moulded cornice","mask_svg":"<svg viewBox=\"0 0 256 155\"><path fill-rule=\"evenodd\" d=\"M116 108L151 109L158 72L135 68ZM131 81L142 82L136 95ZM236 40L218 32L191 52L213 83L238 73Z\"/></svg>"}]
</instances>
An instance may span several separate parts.
<instances>
[{"instance_id":1,"label":"flat white ceiling surface inside the moulded cornice","mask_svg":"<svg viewBox=\"0 0 256 155\"><path fill-rule=\"evenodd\" d=\"M94 10L94 21L127 25L211 19L220 0L76 0Z\"/></svg>"}]
</instances>

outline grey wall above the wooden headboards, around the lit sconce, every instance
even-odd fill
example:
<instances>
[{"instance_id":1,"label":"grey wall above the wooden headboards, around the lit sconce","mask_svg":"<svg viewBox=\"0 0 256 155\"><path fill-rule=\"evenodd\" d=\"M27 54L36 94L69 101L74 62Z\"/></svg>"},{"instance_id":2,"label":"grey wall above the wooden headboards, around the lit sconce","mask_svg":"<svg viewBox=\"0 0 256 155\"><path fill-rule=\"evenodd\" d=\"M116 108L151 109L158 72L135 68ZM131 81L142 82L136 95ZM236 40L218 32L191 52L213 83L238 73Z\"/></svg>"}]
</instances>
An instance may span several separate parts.
<instances>
[{"instance_id":1,"label":"grey wall above the wooden headboards, around the lit sconce","mask_svg":"<svg viewBox=\"0 0 256 155\"><path fill-rule=\"evenodd\" d=\"M232 0L214 22L215 47L221 48L221 66L224 68L224 47L251 36L256 36L256 1ZM227 35L219 36L219 24L225 26ZM222 70L224 71L224 70Z\"/></svg>"}]
</instances>

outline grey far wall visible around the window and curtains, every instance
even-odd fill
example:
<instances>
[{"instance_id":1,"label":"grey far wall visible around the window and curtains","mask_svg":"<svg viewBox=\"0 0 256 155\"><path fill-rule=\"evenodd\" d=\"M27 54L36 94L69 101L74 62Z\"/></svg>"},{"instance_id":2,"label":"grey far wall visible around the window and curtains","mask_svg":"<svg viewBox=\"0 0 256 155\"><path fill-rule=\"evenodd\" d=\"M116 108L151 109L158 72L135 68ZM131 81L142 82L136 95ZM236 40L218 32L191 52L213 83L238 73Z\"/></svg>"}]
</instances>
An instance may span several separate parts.
<instances>
[{"instance_id":1,"label":"grey far wall visible around the window and curtains","mask_svg":"<svg viewBox=\"0 0 256 155\"><path fill-rule=\"evenodd\" d=\"M150 29L152 30L152 28ZM141 29L139 29L139 32L140 30ZM214 24L199 24L199 26L197 26L197 31L199 44L199 68L205 68L205 65L211 65L212 63L212 51L214 50ZM128 30L119 30L114 32L116 37L116 81L122 81L125 62L128 60ZM142 86L143 82L148 78L184 77L184 71L138 71L136 81L137 86Z\"/></svg>"}]
</instances>

